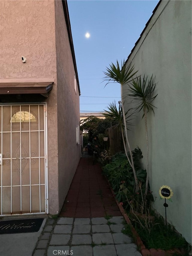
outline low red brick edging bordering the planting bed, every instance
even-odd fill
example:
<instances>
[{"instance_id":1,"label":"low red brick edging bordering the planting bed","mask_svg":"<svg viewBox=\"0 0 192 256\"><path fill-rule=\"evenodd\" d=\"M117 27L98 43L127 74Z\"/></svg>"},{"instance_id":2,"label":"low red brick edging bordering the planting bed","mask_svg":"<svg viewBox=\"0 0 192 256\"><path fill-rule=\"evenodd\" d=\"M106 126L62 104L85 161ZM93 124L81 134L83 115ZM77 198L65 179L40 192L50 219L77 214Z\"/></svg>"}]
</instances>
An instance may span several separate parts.
<instances>
[{"instance_id":1,"label":"low red brick edging bordering the planting bed","mask_svg":"<svg viewBox=\"0 0 192 256\"><path fill-rule=\"evenodd\" d=\"M184 255L184 251L183 250L179 250L179 249L168 250L168 251L164 251L164 250L161 250L161 249L157 249L156 250L156 249L153 249L153 248L152 249L146 249L146 247L143 244L140 236L138 235L137 231L135 230L134 226L132 225L128 215L125 213L125 210L124 210L123 206L119 205L119 202L116 200L115 193L114 193L113 189L111 188L111 185L110 185L110 183L109 183L109 181L108 181L106 176L105 176L105 178L107 180L108 185L110 186L111 192L112 192L113 197L114 197L114 199L116 201L116 204L119 207L119 210L120 210L121 214L125 218L125 221L127 222L127 224L129 224L131 226L131 231L133 233L133 237L134 237L135 243L140 248L141 254L143 256L173 256L173 254L175 254L175 253L180 254L180 255Z\"/></svg>"}]
</instances>

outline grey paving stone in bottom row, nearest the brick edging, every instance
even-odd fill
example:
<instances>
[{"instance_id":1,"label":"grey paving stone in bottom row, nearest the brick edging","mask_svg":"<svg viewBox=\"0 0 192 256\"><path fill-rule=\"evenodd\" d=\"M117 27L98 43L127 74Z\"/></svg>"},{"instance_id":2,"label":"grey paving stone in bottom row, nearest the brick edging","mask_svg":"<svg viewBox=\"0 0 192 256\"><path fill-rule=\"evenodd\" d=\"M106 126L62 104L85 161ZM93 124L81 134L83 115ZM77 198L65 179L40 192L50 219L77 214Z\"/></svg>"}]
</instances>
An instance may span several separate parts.
<instances>
[{"instance_id":1,"label":"grey paving stone in bottom row, nearest the brick edging","mask_svg":"<svg viewBox=\"0 0 192 256\"><path fill-rule=\"evenodd\" d=\"M118 256L142 256L142 254L137 251L137 245L135 244L118 244L115 245Z\"/></svg>"}]
</instances>

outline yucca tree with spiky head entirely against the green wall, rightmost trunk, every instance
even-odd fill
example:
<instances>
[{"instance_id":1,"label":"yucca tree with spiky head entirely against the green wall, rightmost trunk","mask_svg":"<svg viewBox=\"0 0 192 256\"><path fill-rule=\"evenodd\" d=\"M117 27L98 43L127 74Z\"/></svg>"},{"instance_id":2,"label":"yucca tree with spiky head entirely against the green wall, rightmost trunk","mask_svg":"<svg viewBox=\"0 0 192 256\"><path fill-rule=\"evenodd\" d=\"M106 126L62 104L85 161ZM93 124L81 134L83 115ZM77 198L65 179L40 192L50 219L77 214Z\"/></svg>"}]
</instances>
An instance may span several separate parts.
<instances>
[{"instance_id":1,"label":"yucca tree with spiky head entirely against the green wall, rightmost trunk","mask_svg":"<svg viewBox=\"0 0 192 256\"><path fill-rule=\"evenodd\" d=\"M148 79L148 76L141 78L141 75L132 80L131 84L129 85L129 94L128 96L133 99L132 102L136 104L134 107L135 110L143 110L143 117L145 118L145 133L146 133L146 148L147 148L147 158L146 158L146 187L145 187L145 199L147 195L148 189L148 182L149 182L149 143L148 143L148 131L147 131L147 113L152 111L154 114L153 108L155 107L152 105L152 101L155 100L158 94L154 95L155 91L155 78L153 75Z\"/></svg>"}]
</instances>

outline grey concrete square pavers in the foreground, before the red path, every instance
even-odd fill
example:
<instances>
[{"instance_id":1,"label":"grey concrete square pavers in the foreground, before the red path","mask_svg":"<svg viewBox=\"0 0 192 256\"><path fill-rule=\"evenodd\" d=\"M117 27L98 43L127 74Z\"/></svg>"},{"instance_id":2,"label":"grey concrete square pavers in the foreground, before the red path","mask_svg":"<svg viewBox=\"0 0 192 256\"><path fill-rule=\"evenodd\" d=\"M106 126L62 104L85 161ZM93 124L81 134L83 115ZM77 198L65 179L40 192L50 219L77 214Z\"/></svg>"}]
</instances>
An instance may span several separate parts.
<instances>
[{"instance_id":1,"label":"grey concrete square pavers in the foreground, before the red path","mask_svg":"<svg viewBox=\"0 0 192 256\"><path fill-rule=\"evenodd\" d=\"M121 231L124 218L61 217L40 237L34 256L140 256L132 239ZM47 251L47 252L46 252Z\"/></svg>"}]
</instances>

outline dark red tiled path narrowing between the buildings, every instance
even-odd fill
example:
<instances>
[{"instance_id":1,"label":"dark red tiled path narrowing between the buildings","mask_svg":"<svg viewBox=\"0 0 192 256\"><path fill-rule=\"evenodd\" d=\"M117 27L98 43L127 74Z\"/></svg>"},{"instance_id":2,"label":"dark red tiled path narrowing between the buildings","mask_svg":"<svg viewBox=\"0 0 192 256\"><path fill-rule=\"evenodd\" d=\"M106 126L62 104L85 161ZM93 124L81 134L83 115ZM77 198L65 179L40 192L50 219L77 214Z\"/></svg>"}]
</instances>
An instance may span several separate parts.
<instances>
[{"instance_id":1,"label":"dark red tiled path narrowing between the buildings","mask_svg":"<svg viewBox=\"0 0 192 256\"><path fill-rule=\"evenodd\" d=\"M121 216L101 167L84 152L71 182L60 217Z\"/></svg>"}]
</instances>

